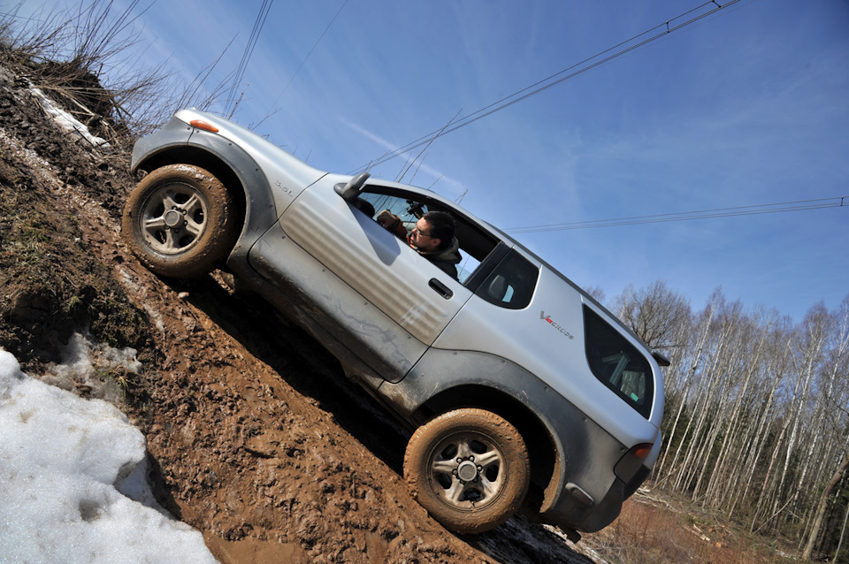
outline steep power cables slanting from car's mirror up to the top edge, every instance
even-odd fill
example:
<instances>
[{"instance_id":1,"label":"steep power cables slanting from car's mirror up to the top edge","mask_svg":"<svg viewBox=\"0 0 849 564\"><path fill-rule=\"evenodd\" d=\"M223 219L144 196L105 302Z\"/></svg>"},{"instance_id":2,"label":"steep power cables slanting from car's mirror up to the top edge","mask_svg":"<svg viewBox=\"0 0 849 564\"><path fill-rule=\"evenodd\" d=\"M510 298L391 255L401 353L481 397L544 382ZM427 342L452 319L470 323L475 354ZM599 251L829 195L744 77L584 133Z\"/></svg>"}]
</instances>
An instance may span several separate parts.
<instances>
[{"instance_id":1,"label":"steep power cables slanting from car's mirror up to the top edge","mask_svg":"<svg viewBox=\"0 0 849 564\"><path fill-rule=\"evenodd\" d=\"M566 80L573 79L600 65L604 65L605 63L608 63L615 58L622 57L623 55L626 55L633 50L637 50L641 47L646 46L648 43L657 41L658 39L668 34L676 32L684 27L690 26L700 21L701 19L707 18L708 16L712 16L716 12L725 9L730 5L738 4L738 2L740 1L741 0L730 0L725 4L719 4L715 0L710 0L709 2L700 4L695 8L692 8L691 10L685 11L677 15L675 18L668 19L667 21L661 24L647 29L641 34L634 35L630 39L627 39L623 42L619 42L613 47L610 47L606 50L600 51L592 57L587 57L583 61L580 61L575 65L570 65L569 67L563 69L560 72L555 72L554 74L548 76L543 80L538 80L530 86L522 88L521 90L518 90L511 95L507 95L496 102L490 103L489 105L484 106L478 111L470 113L468 116L459 118L455 120L455 124L451 127L442 130L434 130L431 133L427 133L426 135L419 137L416 141L410 141L402 147L387 151L383 156L380 156L377 160L371 161L368 164L364 164L355 169L354 171L351 171L351 173L377 166L378 164L385 163L387 160L392 159L395 156L399 156L402 153L408 152L412 149L417 149L425 143L432 141L436 137L441 137L443 135L446 135L447 133L455 132L461 127L469 126L470 124L473 124L474 122L478 121L478 119L483 119L487 116L491 116L497 111L504 110L505 108L508 108L509 106L512 106L515 103L522 102L523 100L526 100L527 98L530 98L533 95L537 95L540 92L547 90L548 88L553 88L558 84L565 82ZM685 20L679 22L679 20L681 19Z\"/></svg>"}]
</instances>

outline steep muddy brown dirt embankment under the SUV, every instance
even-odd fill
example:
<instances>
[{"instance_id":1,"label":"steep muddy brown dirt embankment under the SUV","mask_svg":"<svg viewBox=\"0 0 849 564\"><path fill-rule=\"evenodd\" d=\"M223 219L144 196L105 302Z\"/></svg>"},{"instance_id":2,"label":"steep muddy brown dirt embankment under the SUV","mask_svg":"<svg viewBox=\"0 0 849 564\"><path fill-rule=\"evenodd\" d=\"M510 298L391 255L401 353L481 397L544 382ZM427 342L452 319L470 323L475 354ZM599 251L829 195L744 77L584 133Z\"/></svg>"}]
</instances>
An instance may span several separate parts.
<instances>
[{"instance_id":1,"label":"steep muddy brown dirt embankment under the SUV","mask_svg":"<svg viewBox=\"0 0 849 564\"><path fill-rule=\"evenodd\" d=\"M590 561L521 518L478 537L433 522L402 481L399 426L317 343L224 274L169 285L126 252L126 168L0 69L0 347L35 377L75 332L135 348L141 370L100 379L147 437L157 496L219 560Z\"/></svg>"}]
</instances>

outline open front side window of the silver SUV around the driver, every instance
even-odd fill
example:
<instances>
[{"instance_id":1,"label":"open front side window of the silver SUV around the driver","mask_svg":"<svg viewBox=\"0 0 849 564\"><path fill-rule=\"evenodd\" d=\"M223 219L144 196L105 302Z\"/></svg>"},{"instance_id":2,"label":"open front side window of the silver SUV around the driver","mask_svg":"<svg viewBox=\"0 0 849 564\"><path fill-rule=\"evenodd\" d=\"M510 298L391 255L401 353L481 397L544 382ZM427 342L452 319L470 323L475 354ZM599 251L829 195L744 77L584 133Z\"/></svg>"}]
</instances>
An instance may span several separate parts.
<instances>
[{"instance_id":1,"label":"open front side window of the silver SUV around the driver","mask_svg":"<svg viewBox=\"0 0 849 564\"><path fill-rule=\"evenodd\" d=\"M357 209L372 219L377 219L383 210L398 216L404 229L409 233L416 222L428 211L446 211L454 217L455 237L460 243L460 255L463 260L457 264L459 280L467 284L472 274L478 270L480 263L492 253L498 240L492 234L483 230L476 222L464 217L457 210L445 206L441 202L430 200L419 194L412 194L397 188L367 186L359 194L355 202ZM399 236L400 233L398 233Z\"/></svg>"}]
</instances>

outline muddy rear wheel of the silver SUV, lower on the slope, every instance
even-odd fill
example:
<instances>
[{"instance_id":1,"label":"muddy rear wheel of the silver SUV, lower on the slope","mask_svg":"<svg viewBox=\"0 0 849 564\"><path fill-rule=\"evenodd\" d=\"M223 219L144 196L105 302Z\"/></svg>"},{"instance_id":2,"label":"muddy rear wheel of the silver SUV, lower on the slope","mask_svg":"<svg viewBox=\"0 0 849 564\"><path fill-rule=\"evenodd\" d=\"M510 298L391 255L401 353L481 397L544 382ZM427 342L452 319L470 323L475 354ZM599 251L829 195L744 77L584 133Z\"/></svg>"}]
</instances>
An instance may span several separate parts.
<instances>
[{"instance_id":1,"label":"muddy rear wheel of the silver SUV, lower on the slope","mask_svg":"<svg viewBox=\"0 0 849 564\"><path fill-rule=\"evenodd\" d=\"M481 533L507 521L530 484L524 440L499 415L457 409L419 427L409 439L404 476L434 519L458 533Z\"/></svg>"}]
</instances>

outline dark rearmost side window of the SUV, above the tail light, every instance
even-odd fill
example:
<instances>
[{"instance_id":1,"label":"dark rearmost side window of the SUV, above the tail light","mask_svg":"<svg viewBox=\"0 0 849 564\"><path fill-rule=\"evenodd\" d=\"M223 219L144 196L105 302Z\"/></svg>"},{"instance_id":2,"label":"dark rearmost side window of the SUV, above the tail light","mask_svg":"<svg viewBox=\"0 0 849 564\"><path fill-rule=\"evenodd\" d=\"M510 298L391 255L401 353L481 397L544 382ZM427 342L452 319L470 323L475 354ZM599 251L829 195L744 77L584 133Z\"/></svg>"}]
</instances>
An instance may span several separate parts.
<instances>
[{"instance_id":1,"label":"dark rearmost side window of the SUV, above the tail light","mask_svg":"<svg viewBox=\"0 0 849 564\"><path fill-rule=\"evenodd\" d=\"M595 377L646 419L652 414L652 366L637 347L584 306L586 360Z\"/></svg>"}]
</instances>

